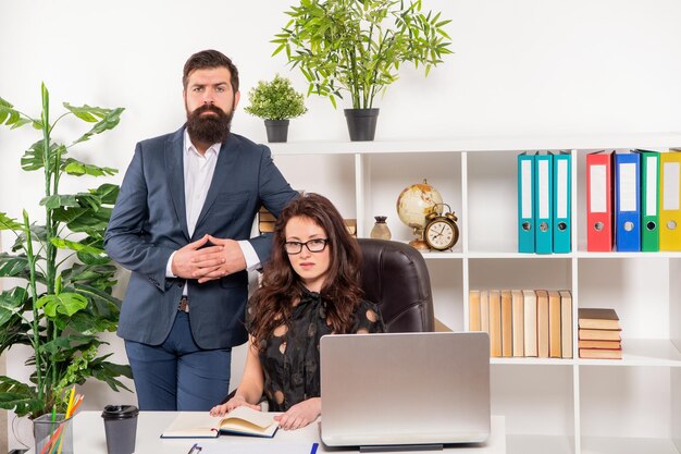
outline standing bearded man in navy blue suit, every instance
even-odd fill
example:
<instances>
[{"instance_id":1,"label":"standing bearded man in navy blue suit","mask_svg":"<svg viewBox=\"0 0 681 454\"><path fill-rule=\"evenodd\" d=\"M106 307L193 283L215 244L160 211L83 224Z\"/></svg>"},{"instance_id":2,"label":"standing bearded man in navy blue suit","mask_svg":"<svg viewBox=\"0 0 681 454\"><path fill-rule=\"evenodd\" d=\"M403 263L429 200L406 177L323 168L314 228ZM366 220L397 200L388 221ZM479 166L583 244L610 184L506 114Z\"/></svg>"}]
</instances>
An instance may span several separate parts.
<instances>
[{"instance_id":1,"label":"standing bearded man in navy blue suit","mask_svg":"<svg viewBox=\"0 0 681 454\"><path fill-rule=\"evenodd\" d=\"M117 334L146 410L209 410L227 393L232 347L246 342L247 270L269 236L250 238L260 206L297 193L268 147L230 132L238 72L215 50L185 63L187 123L137 144L104 247L132 271Z\"/></svg>"}]
</instances>

